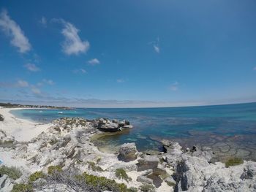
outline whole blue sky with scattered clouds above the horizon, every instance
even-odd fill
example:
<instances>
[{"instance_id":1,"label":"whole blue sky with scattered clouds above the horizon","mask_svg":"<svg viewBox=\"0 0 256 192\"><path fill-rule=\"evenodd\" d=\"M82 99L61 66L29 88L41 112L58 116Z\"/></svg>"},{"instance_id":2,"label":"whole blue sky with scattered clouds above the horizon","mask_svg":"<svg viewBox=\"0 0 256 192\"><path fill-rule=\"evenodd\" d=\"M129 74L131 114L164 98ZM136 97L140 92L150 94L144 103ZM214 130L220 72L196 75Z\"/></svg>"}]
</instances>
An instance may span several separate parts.
<instances>
[{"instance_id":1,"label":"whole blue sky with scattered clouds above the horizon","mask_svg":"<svg viewBox=\"0 0 256 192\"><path fill-rule=\"evenodd\" d=\"M255 0L0 1L0 101L256 101Z\"/></svg>"}]
</instances>

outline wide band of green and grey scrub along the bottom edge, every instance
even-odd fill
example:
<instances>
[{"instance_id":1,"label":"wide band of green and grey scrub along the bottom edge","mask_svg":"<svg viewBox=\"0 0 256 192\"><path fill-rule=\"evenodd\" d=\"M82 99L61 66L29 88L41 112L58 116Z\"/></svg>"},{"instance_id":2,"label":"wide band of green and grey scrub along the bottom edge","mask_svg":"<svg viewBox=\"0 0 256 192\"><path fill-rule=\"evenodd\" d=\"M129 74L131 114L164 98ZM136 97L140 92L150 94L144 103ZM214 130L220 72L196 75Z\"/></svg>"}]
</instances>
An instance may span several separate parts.
<instances>
[{"instance_id":1,"label":"wide band of green and grey scrub along the bottom edge","mask_svg":"<svg viewBox=\"0 0 256 192\"><path fill-rule=\"evenodd\" d=\"M78 172L68 172L59 169L59 166L50 166L48 174L42 172L34 172L29 177L28 183L15 184L12 192L32 192L38 189L57 190L58 186L63 185L65 188L75 191L113 191L113 192L135 192L135 188L127 188L124 183L116 183L115 180L110 180L106 177L98 177L92 174L78 174ZM42 185L36 185L35 182L43 179Z\"/></svg>"}]
</instances>

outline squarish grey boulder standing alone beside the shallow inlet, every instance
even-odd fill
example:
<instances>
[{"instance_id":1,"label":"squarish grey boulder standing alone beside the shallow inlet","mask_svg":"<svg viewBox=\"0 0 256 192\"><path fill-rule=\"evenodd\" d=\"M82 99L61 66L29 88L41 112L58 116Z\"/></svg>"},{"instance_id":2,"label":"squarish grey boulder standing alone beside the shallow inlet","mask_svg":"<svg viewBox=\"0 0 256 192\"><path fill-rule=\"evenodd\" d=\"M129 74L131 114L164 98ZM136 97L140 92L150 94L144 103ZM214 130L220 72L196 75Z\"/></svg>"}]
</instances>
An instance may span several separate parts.
<instances>
[{"instance_id":1,"label":"squarish grey boulder standing alone beside the shallow inlet","mask_svg":"<svg viewBox=\"0 0 256 192\"><path fill-rule=\"evenodd\" d=\"M121 161L134 161L137 159L138 151L134 142L124 143L119 148L118 159Z\"/></svg>"}]
</instances>

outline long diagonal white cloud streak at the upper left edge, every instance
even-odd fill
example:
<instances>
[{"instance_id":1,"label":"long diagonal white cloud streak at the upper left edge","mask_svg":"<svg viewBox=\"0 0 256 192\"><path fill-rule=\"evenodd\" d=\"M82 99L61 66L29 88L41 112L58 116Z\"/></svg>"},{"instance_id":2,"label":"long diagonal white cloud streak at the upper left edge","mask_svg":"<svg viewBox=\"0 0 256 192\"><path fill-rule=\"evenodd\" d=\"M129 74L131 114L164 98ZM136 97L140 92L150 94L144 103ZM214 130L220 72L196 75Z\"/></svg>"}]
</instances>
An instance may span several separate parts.
<instances>
[{"instance_id":1,"label":"long diagonal white cloud streak at the upper left edge","mask_svg":"<svg viewBox=\"0 0 256 192\"><path fill-rule=\"evenodd\" d=\"M20 53L26 53L31 50L29 39L26 38L20 26L10 18L6 10L0 14L0 28L11 37L11 44L18 47Z\"/></svg>"}]
</instances>

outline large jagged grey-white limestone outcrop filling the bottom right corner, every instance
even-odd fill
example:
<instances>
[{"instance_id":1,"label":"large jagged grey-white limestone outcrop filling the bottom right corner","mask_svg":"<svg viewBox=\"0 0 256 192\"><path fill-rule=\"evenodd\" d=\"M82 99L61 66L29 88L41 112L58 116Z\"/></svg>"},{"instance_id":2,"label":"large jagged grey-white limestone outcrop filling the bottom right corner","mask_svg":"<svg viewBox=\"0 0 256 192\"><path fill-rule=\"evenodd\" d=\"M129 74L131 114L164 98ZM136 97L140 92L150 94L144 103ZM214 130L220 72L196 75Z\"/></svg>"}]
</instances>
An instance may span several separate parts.
<instances>
[{"instance_id":1,"label":"large jagged grey-white limestone outcrop filling the bottom right corner","mask_svg":"<svg viewBox=\"0 0 256 192\"><path fill-rule=\"evenodd\" d=\"M162 144L165 161L176 168L174 191L256 191L256 162L226 168L221 162L211 163L214 153L209 147L182 151L178 143Z\"/></svg>"}]
</instances>

